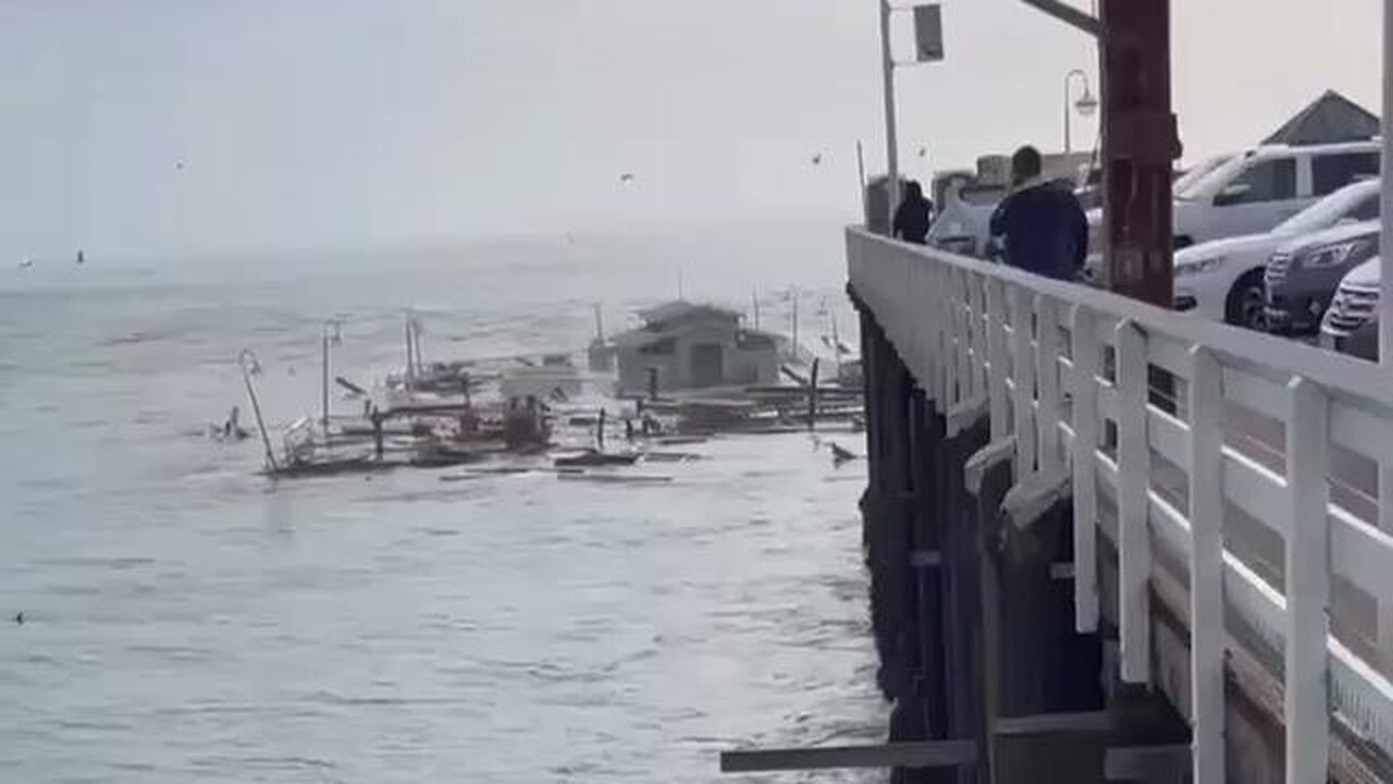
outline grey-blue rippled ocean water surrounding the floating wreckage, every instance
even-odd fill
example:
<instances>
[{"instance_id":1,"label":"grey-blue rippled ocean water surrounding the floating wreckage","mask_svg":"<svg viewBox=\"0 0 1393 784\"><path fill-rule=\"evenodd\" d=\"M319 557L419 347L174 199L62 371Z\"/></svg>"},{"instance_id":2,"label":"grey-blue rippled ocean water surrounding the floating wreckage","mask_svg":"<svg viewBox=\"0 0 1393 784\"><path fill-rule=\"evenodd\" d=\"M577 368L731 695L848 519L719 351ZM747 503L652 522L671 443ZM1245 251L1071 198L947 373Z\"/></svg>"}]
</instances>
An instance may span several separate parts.
<instances>
[{"instance_id":1,"label":"grey-blue rippled ocean water surrounding the floating wreckage","mask_svg":"<svg viewBox=\"0 0 1393 784\"><path fill-rule=\"evenodd\" d=\"M883 737L864 469L808 435L648 487L273 483L205 435L244 347L273 423L315 412L326 318L361 382L405 307L428 360L579 349L593 303L618 329L678 286L846 338L834 229L89 259L0 273L0 781L716 781Z\"/></svg>"}]
</instances>

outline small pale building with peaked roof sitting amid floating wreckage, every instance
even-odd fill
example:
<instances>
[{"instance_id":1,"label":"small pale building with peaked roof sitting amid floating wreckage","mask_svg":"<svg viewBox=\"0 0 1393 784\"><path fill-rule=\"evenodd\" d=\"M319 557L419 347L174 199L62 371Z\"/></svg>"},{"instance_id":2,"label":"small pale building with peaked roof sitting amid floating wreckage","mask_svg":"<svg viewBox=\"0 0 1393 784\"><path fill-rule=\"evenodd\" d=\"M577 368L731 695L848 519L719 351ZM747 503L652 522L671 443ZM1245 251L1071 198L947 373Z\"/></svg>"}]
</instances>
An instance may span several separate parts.
<instances>
[{"instance_id":1,"label":"small pale building with peaked roof sitting amid floating wreckage","mask_svg":"<svg viewBox=\"0 0 1393 784\"><path fill-rule=\"evenodd\" d=\"M737 311L677 300L639 317L642 326L613 338L620 393L646 392L649 368L662 392L779 382L781 339L742 328Z\"/></svg>"}]
</instances>

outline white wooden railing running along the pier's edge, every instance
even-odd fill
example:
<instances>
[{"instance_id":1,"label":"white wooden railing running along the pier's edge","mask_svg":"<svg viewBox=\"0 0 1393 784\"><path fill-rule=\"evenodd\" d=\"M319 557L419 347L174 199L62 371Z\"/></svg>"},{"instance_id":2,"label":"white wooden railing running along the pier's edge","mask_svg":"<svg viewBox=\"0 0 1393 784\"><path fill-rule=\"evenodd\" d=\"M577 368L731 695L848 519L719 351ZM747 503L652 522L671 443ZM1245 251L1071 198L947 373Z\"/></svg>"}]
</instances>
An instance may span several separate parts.
<instances>
[{"instance_id":1,"label":"white wooden railing running along the pier's edge","mask_svg":"<svg viewBox=\"0 0 1393 784\"><path fill-rule=\"evenodd\" d=\"M950 431L989 416L1018 497L1073 495L1081 632L1099 619L1099 532L1116 545L1126 681L1152 678L1151 585L1180 564L1197 781L1224 780L1233 653L1277 657L1287 781L1326 780L1336 731L1393 757L1393 379L859 229L847 252L853 289ZM1369 605L1376 622L1348 610Z\"/></svg>"}]
</instances>

